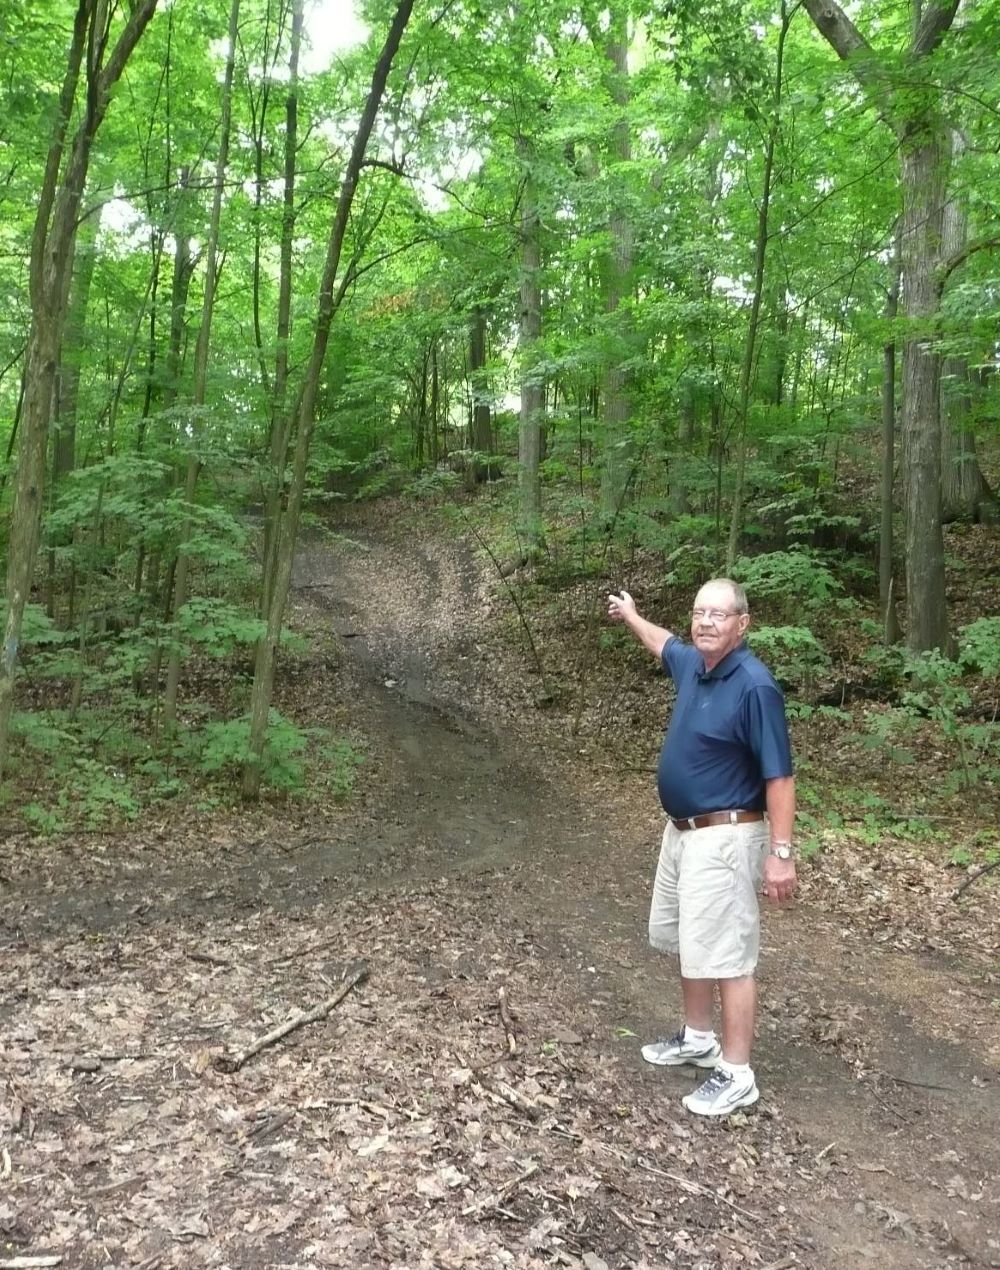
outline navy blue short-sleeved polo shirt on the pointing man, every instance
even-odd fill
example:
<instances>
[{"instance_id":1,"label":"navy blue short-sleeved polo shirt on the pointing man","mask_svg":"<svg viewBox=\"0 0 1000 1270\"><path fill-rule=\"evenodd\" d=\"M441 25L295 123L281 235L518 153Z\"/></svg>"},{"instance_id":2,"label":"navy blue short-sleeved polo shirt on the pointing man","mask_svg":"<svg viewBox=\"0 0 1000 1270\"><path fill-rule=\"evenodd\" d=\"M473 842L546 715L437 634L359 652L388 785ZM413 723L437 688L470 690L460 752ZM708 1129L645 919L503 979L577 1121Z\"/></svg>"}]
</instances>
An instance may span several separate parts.
<instances>
[{"instance_id":1,"label":"navy blue short-sleeved polo shirt on the pointing man","mask_svg":"<svg viewBox=\"0 0 1000 1270\"><path fill-rule=\"evenodd\" d=\"M792 775L785 702L770 671L746 644L706 671L676 635L662 659L677 687L657 768L663 809L677 818L762 812L764 782Z\"/></svg>"}]
</instances>

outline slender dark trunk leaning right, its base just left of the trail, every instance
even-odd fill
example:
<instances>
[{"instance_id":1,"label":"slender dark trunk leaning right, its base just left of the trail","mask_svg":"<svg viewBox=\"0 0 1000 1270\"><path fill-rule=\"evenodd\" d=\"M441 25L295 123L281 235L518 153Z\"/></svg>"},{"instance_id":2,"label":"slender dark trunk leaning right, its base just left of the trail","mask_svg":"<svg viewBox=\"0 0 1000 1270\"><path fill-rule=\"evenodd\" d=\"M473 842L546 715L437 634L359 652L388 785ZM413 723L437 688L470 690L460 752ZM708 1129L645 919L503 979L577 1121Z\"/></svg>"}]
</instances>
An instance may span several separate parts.
<instances>
[{"instance_id":1,"label":"slender dark trunk leaning right, its base just left of the trail","mask_svg":"<svg viewBox=\"0 0 1000 1270\"><path fill-rule=\"evenodd\" d=\"M257 645L257 659L254 664L254 681L250 696L250 733L249 733L249 758L243 768L243 796L255 799L260 794L260 781L264 772L264 743L267 740L267 721L271 712L271 698L274 688L274 665L277 659L278 640L281 627L285 621L285 606L288 601L291 587L292 561L295 558L295 541L299 533L299 521L302 511L302 497L305 493L306 467L309 464L309 446L313 436L313 423L315 418L316 395L319 392L323 363L327 357L327 344L329 343L330 326L337 310L343 300L344 288L341 286L334 292L337 273L343 251L344 235L347 232L347 218L355 201L361 165L368 145L368 137L375 126L375 118L385 93L389 71L399 50L403 32L409 22L413 10L413 0L400 0L393 17L382 51L372 75L365 109L355 135L351 149L351 157L344 171L341 196L337 201L337 211L330 227L329 244L327 246L327 260L323 268L323 279L319 291L319 306L316 312L316 326L313 337L313 351L309 358L305 380L299 396L297 436L295 441L295 455L292 458L291 488L288 490L288 504L285 516L276 526L276 546L273 551L273 583L268 588L271 603L267 613L267 632Z\"/></svg>"}]
</instances>

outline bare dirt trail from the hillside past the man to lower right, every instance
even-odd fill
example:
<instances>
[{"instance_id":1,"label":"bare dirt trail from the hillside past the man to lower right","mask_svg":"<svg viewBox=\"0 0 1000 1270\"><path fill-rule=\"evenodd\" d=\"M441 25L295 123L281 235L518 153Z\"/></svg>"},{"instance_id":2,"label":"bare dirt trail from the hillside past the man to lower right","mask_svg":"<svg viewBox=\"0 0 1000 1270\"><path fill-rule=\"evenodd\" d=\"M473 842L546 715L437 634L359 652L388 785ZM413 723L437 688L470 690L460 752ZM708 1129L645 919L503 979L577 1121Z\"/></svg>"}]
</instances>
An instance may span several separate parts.
<instances>
[{"instance_id":1,"label":"bare dirt trail from the hillside past the man to lower right","mask_svg":"<svg viewBox=\"0 0 1000 1270\"><path fill-rule=\"evenodd\" d=\"M670 1026L672 968L643 939L661 824L649 779L597 790L584 762L567 762L572 747L539 761L521 738L478 730L469 720L482 719L490 686L488 660L470 655L483 583L471 560L357 541L360 551L305 558L304 575L328 577L334 617L362 632L351 640L360 681L391 683L376 706L380 734L396 743L384 761L396 787L419 791L416 841L440 831L428 864L517 865L516 899L503 902L572 946L574 991L592 993L600 978L609 1030ZM775 1204L784 1198L816 1241L806 1264L1000 1266L1000 1073L982 1060L995 1002L942 965L873 945L814 898L766 914L761 996L765 1114L820 1162L806 1187L770 1179ZM623 1048L647 1097L676 1099L691 1083L645 1068L635 1040Z\"/></svg>"}]
</instances>

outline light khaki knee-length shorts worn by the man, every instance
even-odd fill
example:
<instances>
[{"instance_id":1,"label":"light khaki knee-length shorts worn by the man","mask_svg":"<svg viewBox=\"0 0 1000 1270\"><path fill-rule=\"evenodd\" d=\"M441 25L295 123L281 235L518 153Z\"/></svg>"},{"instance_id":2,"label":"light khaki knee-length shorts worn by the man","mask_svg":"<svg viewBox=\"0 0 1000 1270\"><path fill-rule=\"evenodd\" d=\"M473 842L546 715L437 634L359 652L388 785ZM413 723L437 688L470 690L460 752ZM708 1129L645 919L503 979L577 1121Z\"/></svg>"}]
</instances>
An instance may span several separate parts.
<instances>
[{"instance_id":1,"label":"light khaki knee-length shorts worn by the man","mask_svg":"<svg viewBox=\"0 0 1000 1270\"><path fill-rule=\"evenodd\" d=\"M649 908L649 942L681 959L685 979L738 979L760 954L760 906L769 827L667 823Z\"/></svg>"}]
</instances>

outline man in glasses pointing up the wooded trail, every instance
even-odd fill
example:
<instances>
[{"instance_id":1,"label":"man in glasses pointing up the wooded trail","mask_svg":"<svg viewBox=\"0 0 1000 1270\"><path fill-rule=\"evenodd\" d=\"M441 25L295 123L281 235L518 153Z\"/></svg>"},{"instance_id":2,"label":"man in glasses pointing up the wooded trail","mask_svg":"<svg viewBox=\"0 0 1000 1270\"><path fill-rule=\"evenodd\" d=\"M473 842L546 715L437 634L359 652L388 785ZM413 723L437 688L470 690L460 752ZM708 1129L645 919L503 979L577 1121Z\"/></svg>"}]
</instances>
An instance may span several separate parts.
<instances>
[{"instance_id":1,"label":"man in glasses pointing up the wooded trail","mask_svg":"<svg viewBox=\"0 0 1000 1270\"><path fill-rule=\"evenodd\" d=\"M640 617L628 592L607 597L677 688L657 784L668 820L649 911L649 942L679 954L684 1026L644 1045L648 1063L712 1068L682 1099L696 1115L728 1115L757 1101L750 1066L760 949L757 893L795 890L795 782L784 697L743 643L746 593L728 578L698 592L691 644ZM719 986L722 1045L712 1025Z\"/></svg>"}]
</instances>

